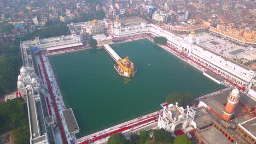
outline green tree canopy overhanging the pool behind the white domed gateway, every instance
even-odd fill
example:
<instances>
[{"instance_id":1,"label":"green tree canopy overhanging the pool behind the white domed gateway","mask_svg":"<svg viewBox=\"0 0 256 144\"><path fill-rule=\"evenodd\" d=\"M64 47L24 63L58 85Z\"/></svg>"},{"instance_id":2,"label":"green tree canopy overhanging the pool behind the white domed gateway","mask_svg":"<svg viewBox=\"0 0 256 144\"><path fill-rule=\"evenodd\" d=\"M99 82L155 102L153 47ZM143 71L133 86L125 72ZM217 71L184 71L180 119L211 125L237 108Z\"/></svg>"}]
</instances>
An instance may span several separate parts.
<instances>
[{"instance_id":1,"label":"green tree canopy overhanging the pool behind the white domed gateway","mask_svg":"<svg viewBox=\"0 0 256 144\"><path fill-rule=\"evenodd\" d=\"M179 92L170 93L166 97L166 102L168 104L175 104L178 102L178 105L180 106L187 106L189 103L191 103L194 100L194 97L192 93L186 92L184 94Z\"/></svg>"}]
</instances>

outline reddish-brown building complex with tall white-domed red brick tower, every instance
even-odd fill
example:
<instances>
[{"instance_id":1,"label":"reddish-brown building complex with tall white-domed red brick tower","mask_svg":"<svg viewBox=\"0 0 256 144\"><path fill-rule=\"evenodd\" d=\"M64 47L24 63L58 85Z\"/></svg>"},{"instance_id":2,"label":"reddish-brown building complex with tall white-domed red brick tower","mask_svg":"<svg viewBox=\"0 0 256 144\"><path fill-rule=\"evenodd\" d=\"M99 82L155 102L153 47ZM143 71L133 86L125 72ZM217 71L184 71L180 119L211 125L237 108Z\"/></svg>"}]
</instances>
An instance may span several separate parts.
<instances>
[{"instance_id":1,"label":"reddish-brown building complex with tall white-domed red brick tower","mask_svg":"<svg viewBox=\"0 0 256 144\"><path fill-rule=\"evenodd\" d=\"M235 88L199 101L194 118L198 143L255 143L255 100Z\"/></svg>"}]
</instances>

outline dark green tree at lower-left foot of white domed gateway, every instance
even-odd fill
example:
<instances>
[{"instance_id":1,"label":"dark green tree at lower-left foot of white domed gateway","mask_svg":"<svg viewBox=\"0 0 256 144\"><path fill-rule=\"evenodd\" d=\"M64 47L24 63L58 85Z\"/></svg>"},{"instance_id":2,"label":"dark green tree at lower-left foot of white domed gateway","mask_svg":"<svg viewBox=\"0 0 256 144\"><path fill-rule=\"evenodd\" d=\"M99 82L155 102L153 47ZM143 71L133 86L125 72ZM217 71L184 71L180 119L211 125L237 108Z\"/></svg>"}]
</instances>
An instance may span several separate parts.
<instances>
[{"instance_id":1,"label":"dark green tree at lower-left foot of white domed gateway","mask_svg":"<svg viewBox=\"0 0 256 144\"><path fill-rule=\"evenodd\" d=\"M161 143L173 142L172 133L170 131L166 131L163 128L154 131L154 138L156 141Z\"/></svg>"}]
</instances>

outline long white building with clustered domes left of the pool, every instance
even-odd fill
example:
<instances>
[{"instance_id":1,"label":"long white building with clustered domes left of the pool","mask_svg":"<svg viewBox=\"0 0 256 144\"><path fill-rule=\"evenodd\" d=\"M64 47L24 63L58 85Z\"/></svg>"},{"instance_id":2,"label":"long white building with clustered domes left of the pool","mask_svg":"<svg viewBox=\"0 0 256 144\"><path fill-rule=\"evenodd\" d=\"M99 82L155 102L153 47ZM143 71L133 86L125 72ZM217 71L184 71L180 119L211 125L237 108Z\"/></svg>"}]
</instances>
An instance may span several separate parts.
<instances>
[{"instance_id":1,"label":"long white building with clustered domes left of the pool","mask_svg":"<svg viewBox=\"0 0 256 144\"><path fill-rule=\"evenodd\" d=\"M44 111L42 106L42 99L40 95L42 88L40 86L40 79L26 67L20 69L18 76L18 91L27 102L28 119L30 127L30 143L50 143L49 129L46 129L44 121ZM50 132L50 131L49 131Z\"/></svg>"}]
</instances>

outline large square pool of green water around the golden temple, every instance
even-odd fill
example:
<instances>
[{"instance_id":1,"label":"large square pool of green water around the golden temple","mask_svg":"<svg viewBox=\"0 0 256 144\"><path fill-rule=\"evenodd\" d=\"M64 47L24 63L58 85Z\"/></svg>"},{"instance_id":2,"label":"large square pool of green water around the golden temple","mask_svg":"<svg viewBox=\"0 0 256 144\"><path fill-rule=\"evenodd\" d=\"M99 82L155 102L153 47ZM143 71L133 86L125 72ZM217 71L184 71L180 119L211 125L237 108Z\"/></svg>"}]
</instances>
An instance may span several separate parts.
<instances>
[{"instance_id":1,"label":"large square pool of green water around the golden temple","mask_svg":"<svg viewBox=\"0 0 256 144\"><path fill-rule=\"evenodd\" d=\"M113 49L122 58L129 56L137 67L128 83L104 49L49 58L65 104L77 118L78 137L158 110L171 92L199 97L223 88L147 39L115 44Z\"/></svg>"}]
</instances>

